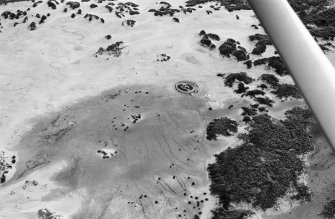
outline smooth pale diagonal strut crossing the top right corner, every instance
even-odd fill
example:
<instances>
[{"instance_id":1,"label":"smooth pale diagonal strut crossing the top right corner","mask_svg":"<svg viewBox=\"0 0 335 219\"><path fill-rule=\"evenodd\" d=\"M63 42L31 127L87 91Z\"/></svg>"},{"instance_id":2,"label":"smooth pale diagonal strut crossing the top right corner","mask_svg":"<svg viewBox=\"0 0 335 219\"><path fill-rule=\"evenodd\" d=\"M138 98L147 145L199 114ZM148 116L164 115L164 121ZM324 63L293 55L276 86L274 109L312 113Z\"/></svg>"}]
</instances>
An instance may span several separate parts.
<instances>
[{"instance_id":1,"label":"smooth pale diagonal strut crossing the top right corner","mask_svg":"<svg viewBox=\"0 0 335 219\"><path fill-rule=\"evenodd\" d=\"M335 70L286 0L248 0L335 151Z\"/></svg>"}]
</instances>

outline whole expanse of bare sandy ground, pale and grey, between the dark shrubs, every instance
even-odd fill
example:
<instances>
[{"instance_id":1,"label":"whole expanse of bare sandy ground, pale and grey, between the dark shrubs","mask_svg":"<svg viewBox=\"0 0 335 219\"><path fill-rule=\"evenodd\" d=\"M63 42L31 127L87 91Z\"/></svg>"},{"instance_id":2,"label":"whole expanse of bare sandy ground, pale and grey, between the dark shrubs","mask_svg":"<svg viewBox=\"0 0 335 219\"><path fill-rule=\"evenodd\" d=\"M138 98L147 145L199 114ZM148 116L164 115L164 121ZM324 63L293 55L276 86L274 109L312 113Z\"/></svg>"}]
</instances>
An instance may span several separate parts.
<instances>
[{"instance_id":1,"label":"whole expanse of bare sandy ground, pale and grey, between the dark shrubs","mask_svg":"<svg viewBox=\"0 0 335 219\"><path fill-rule=\"evenodd\" d=\"M31 2L1 6L0 13L30 7L32 15L51 16L36 31L27 30L31 21L38 21L32 16L16 27L13 21L1 19L0 149L18 156L18 164L9 173L12 179L0 187L0 218L36 218L37 210L44 207L72 218L176 218L179 214L190 218L199 211L202 218L210 217L216 200L208 195L206 165L213 162L213 154L237 141L206 142L204 127L223 115L240 120L239 108L250 102L224 87L216 74L248 71L257 79L272 71L264 66L247 70L242 63L222 58L218 51L199 45L198 33L218 34L217 46L227 38L236 39L251 51L255 43L248 36L264 32L250 27L258 24L252 11L221 10L209 16L208 3L192 14L177 14L180 23L174 23L171 17L147 13L159 7L156 1L136 3L141 14L123 19L108 13L104 4L90 9L91 2L81 3L83 15L97 14L104 24L89 22L83 15L71 19L72 12L62 12L64 5L52 10L46 1L36 8ZM175 8L179 4L183 1L172 2ZM135 26L122 26L125 19L136 20ZM104 38L107 34L111 40ZM120 40L125 43L120 57L93 56L99 47ZM268 47L263 56L251 59L273 52ZM157 62L163 53L171 59ZM176 93L174 84L179 80L196 82L199 93L193 97ZM280 80L292 83L288 76ZM117 101L111 99L119 90ZM229 105L234 107L227 110ZM277 103L270 113L282 118L287 107L296 105L304 102ZM207 111L209 106L217 109ZM139 113L141 119L132 123L131 115ZM103 159L99 149L118 153ZM29 183L24 190L26 180L36 180L38 185ZM209 201L198 207L194 197L204 192L207 195L198 200ZM297 208L297 217L301 216L298 209L308 207Z\"/></svg>"}]
</instances>

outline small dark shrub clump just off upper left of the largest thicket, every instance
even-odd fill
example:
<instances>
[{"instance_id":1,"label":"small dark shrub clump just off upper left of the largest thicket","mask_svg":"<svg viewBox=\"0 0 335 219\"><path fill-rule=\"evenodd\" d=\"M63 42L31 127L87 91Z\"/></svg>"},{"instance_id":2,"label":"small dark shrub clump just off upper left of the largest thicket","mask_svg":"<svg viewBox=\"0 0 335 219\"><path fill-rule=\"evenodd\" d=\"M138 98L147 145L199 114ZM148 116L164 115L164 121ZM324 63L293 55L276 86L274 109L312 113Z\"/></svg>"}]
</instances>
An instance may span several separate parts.
<instances>
[{"instance_id":1,"label":"small dark shrub clump just off upper left of the largest thicket","mask_svg":"<svg viewBox=\"0 0 335 219\"><path fill-rule=\"evenodd\" d=\"M228 117L214 119L207 126L207 140L216 140L217 135L232 136L237 132L238 124Z\"/></svg>"}]
</instances>

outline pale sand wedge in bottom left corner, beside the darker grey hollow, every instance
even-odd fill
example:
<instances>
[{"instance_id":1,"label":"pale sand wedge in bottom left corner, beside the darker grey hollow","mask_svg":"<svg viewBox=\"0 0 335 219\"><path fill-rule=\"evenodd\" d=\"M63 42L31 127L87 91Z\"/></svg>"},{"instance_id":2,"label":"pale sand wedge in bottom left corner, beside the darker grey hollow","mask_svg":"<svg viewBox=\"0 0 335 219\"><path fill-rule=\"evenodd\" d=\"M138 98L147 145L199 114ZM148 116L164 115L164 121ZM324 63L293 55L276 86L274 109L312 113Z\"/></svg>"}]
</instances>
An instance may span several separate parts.
<instances>
[{"instance_id":1,"label":"pale sand wedge in bottom left corner, beside the darker grey hollow","mask_svg":"<svg viewBox=\"0 0 335 219\"><path fill-rule=\"evenodd\" d=\"M65 218L72 215L80 207L82 201L78 192L69 193L62 197L60 192L57 196L49 198L50 201L43 201L44 197L55 191L63 190L56 185L51 177L66 167L66 162L60 161L43 167L38 171L16 181L14 184L3 186L0 194L0 217L9 218L10 215L17 218L30 218L37 216L37 211L41 208L50 208L57 214Z\"/></svg>"}]
</instances>

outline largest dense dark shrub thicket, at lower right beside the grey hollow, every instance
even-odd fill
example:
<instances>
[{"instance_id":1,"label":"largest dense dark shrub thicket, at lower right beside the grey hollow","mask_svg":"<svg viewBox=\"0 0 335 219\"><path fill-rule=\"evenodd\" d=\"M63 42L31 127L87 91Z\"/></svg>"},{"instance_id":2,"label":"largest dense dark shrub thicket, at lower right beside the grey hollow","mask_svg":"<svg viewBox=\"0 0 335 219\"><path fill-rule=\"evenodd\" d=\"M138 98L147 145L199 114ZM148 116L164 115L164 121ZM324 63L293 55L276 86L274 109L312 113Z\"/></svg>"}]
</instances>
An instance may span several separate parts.
<instances>
[{"instance_id":1,"label":"largest dense dark shrub thicket, at lower right beside the grey hollow","mask_svg":"<svg viewBox=\"0 0 335 219\"><path fill-rule=\"evenodd\" d=\"M276 207L289 190L295 191L292 200L310 200L307 186L298 179L306 170L300 157L313 150L310 129L316 122L304 108L285 115L279 121L267 114L253 117L249 133L239 136L243 143L215 155L216 162L208 166L210 191L221 208L249 203L266 210Z\"/></svg>"}]
</instances>

